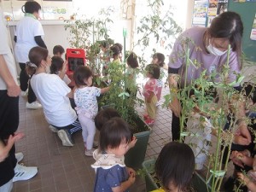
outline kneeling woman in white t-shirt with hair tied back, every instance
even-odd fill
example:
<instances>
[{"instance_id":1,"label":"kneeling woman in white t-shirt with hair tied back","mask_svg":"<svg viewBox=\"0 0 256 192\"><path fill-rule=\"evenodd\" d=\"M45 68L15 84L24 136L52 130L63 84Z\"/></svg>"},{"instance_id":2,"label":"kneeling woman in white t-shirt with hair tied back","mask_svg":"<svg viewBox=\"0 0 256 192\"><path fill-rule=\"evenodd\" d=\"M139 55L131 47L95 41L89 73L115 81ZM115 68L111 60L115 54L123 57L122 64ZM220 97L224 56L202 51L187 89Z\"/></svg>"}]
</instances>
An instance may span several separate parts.
<instances>
[{"instance_id":1,"label":"kneeling woman in white t-shirt with hair tied back","mask_svg":"<svg viewBox=\"0 0 256 192\"><path fill-rule=\"evenodd\" d=\"M41 47L32 48L26 70L32 75L31 86L42 103L49 129L58 133L62 145L73 146L71 134L81 130L77 114L68 100L68 97L73 97L73 92L58 75L48 73L51 65L48 53ZM61 73L66 73L65 64Z\"/></svg>"}]
</instances>

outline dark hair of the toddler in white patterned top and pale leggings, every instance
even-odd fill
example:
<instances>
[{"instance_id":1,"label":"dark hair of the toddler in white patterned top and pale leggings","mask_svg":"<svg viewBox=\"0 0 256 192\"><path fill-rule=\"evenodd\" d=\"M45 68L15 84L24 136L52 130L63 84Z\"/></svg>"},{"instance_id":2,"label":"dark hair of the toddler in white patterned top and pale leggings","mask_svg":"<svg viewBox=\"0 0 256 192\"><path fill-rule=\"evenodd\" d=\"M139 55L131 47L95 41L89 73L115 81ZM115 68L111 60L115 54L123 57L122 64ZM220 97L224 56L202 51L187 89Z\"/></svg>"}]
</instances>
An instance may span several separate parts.
<instances>
[{"instance_id":1,"label":"dark hair of the toddler in white patterned top and pale leggings","mask_svg":"<svg viewBox=\"0 0 256 192\"><path fill-rule=\"evenodd\" d=\"M87 85L84 83L84 79L89 79L92 76L92 72L89 67L79 66L73 73L73 79L77 87L81 85Z\"/></svg>"}]
</instances>

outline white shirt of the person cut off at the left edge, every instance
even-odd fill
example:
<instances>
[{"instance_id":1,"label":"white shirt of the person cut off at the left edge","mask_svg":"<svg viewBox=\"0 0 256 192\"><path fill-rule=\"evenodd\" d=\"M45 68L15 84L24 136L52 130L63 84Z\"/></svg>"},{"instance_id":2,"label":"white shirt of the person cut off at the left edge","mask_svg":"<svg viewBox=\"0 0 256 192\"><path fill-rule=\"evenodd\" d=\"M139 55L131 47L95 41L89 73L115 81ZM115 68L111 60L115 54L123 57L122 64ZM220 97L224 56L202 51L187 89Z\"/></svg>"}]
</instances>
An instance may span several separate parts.
<instances>
[{"instance_id":1,"label":"white shirt of the person cut off at the left edge","mask_svg":"<svg viewBox=\"0 0 256 192\"><path fill-rule=\"evenodd\" d=\"M6 28L6 22L3 19L2 9L0 9L0 55L3 55L3 58L7 64L7 67L9 68L9 72L15 79L15 82L18 83L17 71L15 67L15 59L9 47L8 32ZM1 68L2 67L0 65L0 70ZM7 90L6 83L3 81L1 77L0 77L0 90Z\"/></svg>"}]
</instances>

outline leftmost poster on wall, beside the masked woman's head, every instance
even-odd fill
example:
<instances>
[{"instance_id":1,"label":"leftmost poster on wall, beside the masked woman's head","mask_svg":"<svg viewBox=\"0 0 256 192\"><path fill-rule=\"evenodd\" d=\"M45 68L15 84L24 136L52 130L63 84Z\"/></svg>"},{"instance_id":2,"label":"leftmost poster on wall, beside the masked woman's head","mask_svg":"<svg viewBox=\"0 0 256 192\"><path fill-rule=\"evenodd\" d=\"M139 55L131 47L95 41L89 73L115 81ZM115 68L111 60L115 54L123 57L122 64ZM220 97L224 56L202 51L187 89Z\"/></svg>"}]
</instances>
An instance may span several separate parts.
<instances>
[{"instance_id":1,"label":"leftmost poster on wall, beside the masked woman's head","mask_svg":"<svg viewBox=\"0 0 256 192\"><path fill-rule=\"evenodd\" d=\"M208 0L195 0L192 26L206 26Z\"/></svg>"}]
</instances>

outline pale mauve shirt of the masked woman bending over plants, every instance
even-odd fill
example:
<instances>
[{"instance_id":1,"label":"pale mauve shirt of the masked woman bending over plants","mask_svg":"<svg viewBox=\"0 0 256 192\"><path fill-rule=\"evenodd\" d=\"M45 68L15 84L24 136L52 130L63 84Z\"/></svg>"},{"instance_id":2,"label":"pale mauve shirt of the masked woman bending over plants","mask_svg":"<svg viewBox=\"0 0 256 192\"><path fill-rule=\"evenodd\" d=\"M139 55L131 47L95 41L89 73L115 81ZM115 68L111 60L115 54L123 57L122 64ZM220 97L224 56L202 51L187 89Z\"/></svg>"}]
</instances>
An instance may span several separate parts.
<instances>
[{"instance_id":1,"label":"pale mauve shirt of the masked woman bending over plants","mask_svg":"<svg viewBox=\"0 0 256 192\"><path fill-rule=\"evenodd\" d=\"M207 70L207 75L210 75L213 71L217 72L217 76L212 79L216 82L219 81L218 73L221 73L224 64L227 62L227 54L217 56L207 53L203 44L203 35L207 31L204 27L193 27L183 32L177 41L175 42L172 54L169 57L169 67L178 69L178 73L181 75L182 86L184 84L185 75L185 49L186 46L184 40L186 40L189 46L189 59L190 64L187 71L187 84L190 84L191 80L200 78L201 73ZM194 64L191 64L194 63ZM240 73L240 65L236 56L236 52L230 50L230 82L236 80L236 73ZM239 84L237 84L239 85Z\"/></svg>"}]
</instances>

